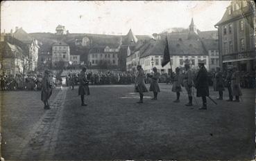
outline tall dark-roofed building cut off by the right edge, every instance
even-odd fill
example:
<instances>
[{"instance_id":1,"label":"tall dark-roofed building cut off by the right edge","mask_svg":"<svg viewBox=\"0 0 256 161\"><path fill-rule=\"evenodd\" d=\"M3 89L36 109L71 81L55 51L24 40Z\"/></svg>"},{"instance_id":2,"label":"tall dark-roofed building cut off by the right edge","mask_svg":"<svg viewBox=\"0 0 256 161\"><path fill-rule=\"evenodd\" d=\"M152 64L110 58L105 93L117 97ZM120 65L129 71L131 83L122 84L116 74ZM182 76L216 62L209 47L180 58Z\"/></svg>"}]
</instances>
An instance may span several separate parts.
<instances>
[{"instance_id":1,"label":"tall dark-roofed building cut off by the right edge","mask_svg":"<svg viewBox=\"0 0 256 161\"><path fill-rule=\"evenodd\" d=\"M232 1L221 21L219 32L220 66L229 64L252 71L255 64L255 7L253 1Z\"/></svg>"}]
</instances>

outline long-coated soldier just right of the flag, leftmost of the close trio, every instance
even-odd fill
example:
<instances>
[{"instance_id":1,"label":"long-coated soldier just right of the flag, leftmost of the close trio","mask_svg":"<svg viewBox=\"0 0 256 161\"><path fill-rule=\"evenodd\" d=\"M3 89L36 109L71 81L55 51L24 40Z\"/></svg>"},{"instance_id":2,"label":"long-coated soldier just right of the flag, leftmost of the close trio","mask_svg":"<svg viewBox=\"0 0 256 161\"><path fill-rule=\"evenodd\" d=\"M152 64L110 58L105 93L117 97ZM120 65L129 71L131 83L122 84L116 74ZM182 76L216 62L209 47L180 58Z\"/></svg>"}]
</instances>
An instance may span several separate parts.
<instances>
[{"instance_id":1,"label":"long-coated soldier just right of the flag, leftmost of the close trio","mask_svg":"<svg viewBox=\"0 0 256 161\"><path fill-rule=\"evenodd\" d=\"M180 102L180 92L182 91L182 75L180 74L180 68L177 67L175 71L176 73L172 77L173 87L171 88L171 91L176 93L176 100L173 102Z\"/></svg>"}]
</instances>

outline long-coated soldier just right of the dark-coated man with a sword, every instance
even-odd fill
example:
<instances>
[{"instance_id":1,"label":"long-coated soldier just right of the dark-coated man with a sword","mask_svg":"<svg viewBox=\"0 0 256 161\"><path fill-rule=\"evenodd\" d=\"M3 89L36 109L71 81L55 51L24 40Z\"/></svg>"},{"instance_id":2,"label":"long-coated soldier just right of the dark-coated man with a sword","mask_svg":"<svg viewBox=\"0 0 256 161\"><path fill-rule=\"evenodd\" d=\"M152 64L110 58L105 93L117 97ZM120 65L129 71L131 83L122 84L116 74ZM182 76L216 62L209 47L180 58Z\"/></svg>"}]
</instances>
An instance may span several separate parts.
<instances>
[{"instance_id":1,"label":"long-coated soldier just right of the dark-coated man with a sword","mask_svg":"<svg viewBox=\"0 0 256 161\"><path fill-rule=\"evenodd\" d=\"M221 72L221 68L216 68L216 74L215 74L215 83L216 87L214 88L214 91L219 91L219 98L217 100L223 100L223 91L225 91L224 88L224 79L223 79L223 73Z\"/></svg>"}]
</instances>

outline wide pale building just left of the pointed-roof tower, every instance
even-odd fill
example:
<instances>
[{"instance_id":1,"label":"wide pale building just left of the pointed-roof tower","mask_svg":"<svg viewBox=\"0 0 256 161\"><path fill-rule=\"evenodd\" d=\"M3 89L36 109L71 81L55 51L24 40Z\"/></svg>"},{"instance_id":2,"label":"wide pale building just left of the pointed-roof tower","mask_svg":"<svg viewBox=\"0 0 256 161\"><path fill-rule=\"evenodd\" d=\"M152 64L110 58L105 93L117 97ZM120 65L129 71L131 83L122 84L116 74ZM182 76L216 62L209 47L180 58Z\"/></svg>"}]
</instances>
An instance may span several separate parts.
<instances>
[{"instance_id":1,"label":"wide pale building just left of the pointed-roof tower","mask_svg":"<svg viewBox=\"0 0 256 161\"><path fill-rule=\"evenodd\" d=\"M88 64L92 68L112 68L118 66L119 48L94 46L89 50Z\"/></svg>"}]
</instances>

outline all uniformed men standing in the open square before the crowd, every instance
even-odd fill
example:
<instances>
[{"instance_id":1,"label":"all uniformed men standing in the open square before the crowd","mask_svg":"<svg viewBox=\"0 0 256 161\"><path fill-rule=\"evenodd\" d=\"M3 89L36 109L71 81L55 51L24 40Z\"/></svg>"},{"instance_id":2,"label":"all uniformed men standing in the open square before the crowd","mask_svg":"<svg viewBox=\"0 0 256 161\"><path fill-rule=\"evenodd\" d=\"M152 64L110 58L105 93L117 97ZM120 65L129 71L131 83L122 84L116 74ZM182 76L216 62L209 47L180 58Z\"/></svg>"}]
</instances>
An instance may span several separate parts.
<instances>
[{"instance_id":1,"label":"all uniformed men standing in the open square before the crowd","mask_svg":"<svg viewBox=\"0 0 256 161\"><path fill-rule=\"evenodd\" d=\"M201 106L199 109L207 109L206 97L210 97L207 70L205 68L204 61L199 61L198 66L199 70L196 75L192 73L189 64L185 64L185 73L183 75L180 73L180 68L176 68L176 73L174 73L171 77L173 82L171 91L176 93L176 100L173 102L180 102L180 93L182 92L182 87L185 87L189 100L189 102L185 105L193 106L193 89L195 87L196 97L201 97L203 101L203 106ZM142 66L137 66L137 70L138 72L135 77L135 92L139 93L139 101L137 103L142 104L144 93L148 92L148 89L145 85L145 74ZM81 106L87 106L87 104L85 104L84 97L85 95L89 95L89 81L87 80L85 72L86 68L83 67L78 77L78 95L80 95ZM153 68L153 74L149 77L151 77L151 85L149 91L153 92L153 98L151 100L157 100L157 94L160 92L160 87L158 84L160 73L157 73L157 68ZM226 83L229 93L229 100L227 101L233 101L233 96L235 96L234 102L239 102L239 96L242 95L239 82L239 71L237 71L237 68L229 68L226 78L223 77L223 73L221 72L220 68L218 68L214 77L214 91L219 91L218 100L223 100L223 91L225 91ZM49 81L49 71L45 70L45 75L42 79L41 97L42 102L44 102L45 109L50 108L49 97L51 97L51 93L52 87Z\"/></svg>"}]
</instances>

